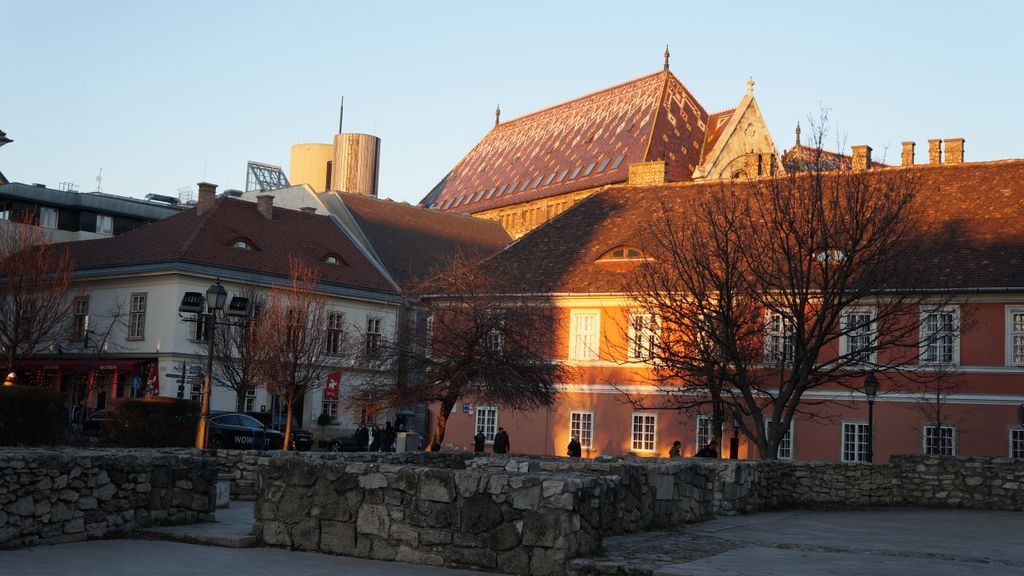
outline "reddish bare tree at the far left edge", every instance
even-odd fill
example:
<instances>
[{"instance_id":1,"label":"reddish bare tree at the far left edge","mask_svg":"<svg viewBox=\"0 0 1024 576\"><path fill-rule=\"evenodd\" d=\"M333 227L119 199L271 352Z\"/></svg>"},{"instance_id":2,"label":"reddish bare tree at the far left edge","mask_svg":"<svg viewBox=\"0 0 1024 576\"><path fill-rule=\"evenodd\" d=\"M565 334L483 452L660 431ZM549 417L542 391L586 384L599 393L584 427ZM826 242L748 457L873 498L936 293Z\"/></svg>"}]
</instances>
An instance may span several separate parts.
<instances>
[{"instance_id":1,"label":"reddish bare tree at the far left edge","mask_svg":"<svg viewBox=\"0 0 1024 576\"><path fill-rule=\"evenodd\" d=\"M73 265L30 214L0 225L0 345L8 370L56 345L71 328Z\"/></svg>"}]
</instances>

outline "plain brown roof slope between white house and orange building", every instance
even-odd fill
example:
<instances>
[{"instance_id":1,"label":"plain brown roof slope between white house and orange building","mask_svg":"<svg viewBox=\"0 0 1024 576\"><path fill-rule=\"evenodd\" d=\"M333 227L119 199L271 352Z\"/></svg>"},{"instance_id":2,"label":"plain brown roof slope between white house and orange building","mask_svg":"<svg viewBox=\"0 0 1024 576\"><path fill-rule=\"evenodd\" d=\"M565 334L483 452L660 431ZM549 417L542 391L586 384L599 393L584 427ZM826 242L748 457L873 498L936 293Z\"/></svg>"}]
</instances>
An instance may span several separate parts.
<instances>
[{"instance_id":1,"label":"plain brown roof slope between white house and orange building","mask_svg":"<svg viewBox=\"0 0 1024 576\"><path fill-rule=\"evenodd\" d=\"M403 288L436 274L457 252L488 256L511 242L505 229L494 220L357 194L336 194Z\"/></svg>"}]
</instances>

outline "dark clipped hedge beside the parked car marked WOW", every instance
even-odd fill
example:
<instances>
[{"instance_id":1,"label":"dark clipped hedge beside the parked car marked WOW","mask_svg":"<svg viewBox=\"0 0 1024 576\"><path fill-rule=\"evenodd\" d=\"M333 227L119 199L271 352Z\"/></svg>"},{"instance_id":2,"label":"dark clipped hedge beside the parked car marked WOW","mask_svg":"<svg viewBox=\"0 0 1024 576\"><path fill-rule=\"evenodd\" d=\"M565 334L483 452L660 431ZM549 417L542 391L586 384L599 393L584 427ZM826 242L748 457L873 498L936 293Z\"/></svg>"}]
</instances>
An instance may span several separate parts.
<instances>
[{"instance_id":1,"label":"dark clipped hedge beside the parked car marked WOW","mask_svg":"<svg viewBox=\"0 0 1024 576\"><path fill-rule=\"evenodd\" d=\"M190 400L126 400L114 409L108 440L118 446L162 448L196 444L200 406Z\"/></svg>"}]
</instances>

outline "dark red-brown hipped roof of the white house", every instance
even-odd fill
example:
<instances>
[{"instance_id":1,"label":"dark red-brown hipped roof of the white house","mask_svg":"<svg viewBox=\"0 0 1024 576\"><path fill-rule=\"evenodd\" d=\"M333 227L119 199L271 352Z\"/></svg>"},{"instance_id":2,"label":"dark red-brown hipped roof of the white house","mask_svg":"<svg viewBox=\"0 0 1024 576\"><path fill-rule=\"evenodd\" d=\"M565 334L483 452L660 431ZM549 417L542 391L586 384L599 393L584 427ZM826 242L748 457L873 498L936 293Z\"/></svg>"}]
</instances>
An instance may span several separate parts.
<instances>
[{"instance_id":1,"label":"dark red-brown hipped roof of the white house","mask_svg":"<svg viewBox=\"0 0 1024 576\"><path fill-rule=\"evenodd\" d=\"M234 248L240 240L252 249ZM321 262L325 284L393 293L331 217L274 206L268 219L255 203L233 198L218 198L214 209L203 215L193 208L121 236L63 246L80 271L190 262L287 278L289 258L297 256ZM329 255L342 262L327 263Z\"/></svg>"}]
</instances>

